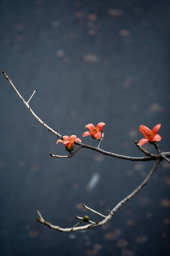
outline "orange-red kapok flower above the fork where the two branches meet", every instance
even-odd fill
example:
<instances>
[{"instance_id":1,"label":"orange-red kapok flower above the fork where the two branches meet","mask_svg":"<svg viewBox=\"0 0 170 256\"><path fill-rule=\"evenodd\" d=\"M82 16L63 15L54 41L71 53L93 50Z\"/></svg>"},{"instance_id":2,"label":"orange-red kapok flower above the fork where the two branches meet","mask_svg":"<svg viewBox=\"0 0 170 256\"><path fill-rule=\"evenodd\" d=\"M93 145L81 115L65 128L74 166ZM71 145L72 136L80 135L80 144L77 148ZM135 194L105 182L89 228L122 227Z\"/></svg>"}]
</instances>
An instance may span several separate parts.
<instances>
[{"instance_id":1,"label":"orange-red kapok flower above the fork where the two branches meet","mask_svg":"<svg viewBox=\"0 0 170 256\"><path fill-rule=\"evenodd\" d=\"M157 132L160 129L161 124L157 124L154 126L152 131L146 127L145 125L141 124L139 127L139 131L143 134L144 138L139 140L139 145L143 146L145 145L148 141L154 142L154 141L160 141L161 136L157 134Z\"/></svg>"}]
</instances>

